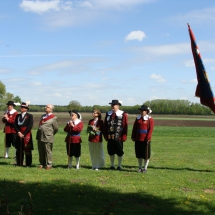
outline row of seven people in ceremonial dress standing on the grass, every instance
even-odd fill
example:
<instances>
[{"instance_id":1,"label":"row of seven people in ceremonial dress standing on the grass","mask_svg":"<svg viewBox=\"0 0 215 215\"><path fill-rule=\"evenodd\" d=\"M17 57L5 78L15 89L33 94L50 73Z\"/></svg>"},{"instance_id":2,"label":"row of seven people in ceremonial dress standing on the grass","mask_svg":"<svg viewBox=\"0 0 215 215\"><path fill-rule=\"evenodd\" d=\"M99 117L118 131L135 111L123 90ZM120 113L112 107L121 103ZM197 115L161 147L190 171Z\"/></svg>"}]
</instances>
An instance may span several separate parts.
<instances>
[{"instance_id":1,"label":"row of seven people in ceremonial dress standing on the grass","mask_svg":"<svg viewBox=\"0 0 215 215\"><path fill-rule=\"evenodd\" d=\"M110 157L110 169L122 170L123 144L127 140L128 114L120 110L121 103L112 100L109 103L111 110L105 115L104 121L99 110L93 111L93 118L89 120L87 133L89 152L92 169L98 170L105 164L103 137L107 141L107 152ZM7 103L2 122L5 123L5 158L9 156L9 148L13 145L16 148L16 163L27 167L32 165L33 141L31 129L33 127L33 116L27 113L29 104L22 102L21 113L14 109L15 103ZM138 171L146 173L151 154L151 137L154 128L154 121L150 116L151 110L142 105L140 115L135 119L131 139L135 142L135 154L138 159ZM52 147L54 135L58 131L57 117L53 114L53 105L45 107L45 114L41 116L36 134L39 152L39 168L49 170L52 168ZM77 110L69 111L70 120L66 123L64 131L67 133L66 151L68 156L68 168L72 168L72 158L75 157L75 168L79 169L81 157L81 132L84 128L81 114ZM118 156L117 167L115 167L115 155ZM143 163L144 161L144 163Z\"/></svg>"}]
</instances>

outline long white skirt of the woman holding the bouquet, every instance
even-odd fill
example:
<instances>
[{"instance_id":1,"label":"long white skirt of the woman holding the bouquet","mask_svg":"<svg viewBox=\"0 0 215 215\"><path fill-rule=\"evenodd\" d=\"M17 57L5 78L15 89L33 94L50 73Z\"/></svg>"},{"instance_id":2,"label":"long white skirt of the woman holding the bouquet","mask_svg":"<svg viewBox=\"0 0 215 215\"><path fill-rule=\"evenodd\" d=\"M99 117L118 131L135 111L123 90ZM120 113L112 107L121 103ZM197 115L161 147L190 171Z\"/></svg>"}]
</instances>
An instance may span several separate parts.
<instances>
[{"instance_id":1,"label":"long white skirt of the woman holding the bouquet","mask_svg":"<svg viewBox=\"0 0 215 215\"><path fill-rule=\"evenodd\" d=\"M105 165L105 156L103 150L103 143L89 142L90 159L92 168L101 168Z\"/></svg>"}]
</instances>

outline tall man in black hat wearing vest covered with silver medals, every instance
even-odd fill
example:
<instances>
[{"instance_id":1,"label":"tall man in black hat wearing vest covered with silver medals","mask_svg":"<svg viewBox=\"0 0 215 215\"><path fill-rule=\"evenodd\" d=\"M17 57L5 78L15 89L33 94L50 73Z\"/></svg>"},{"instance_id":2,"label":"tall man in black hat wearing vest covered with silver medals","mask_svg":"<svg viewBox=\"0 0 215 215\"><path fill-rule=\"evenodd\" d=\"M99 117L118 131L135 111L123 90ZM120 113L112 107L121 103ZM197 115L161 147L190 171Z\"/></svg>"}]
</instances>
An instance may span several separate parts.
<instances>
[{"instance_id":1,"label":"tall man in black hat wearing vest covered with silver medals","mask_svg":"<svg viewBox=\"0 0 215 215\"><path fill-rule=\"evenodd\" d=\"M128 117L127 113L119 110L121 103L118 100L112 100L112 110L105 116L103 135L107 141L107 150L110 155L111 169L114 167L115 154L118 155L118 170L122 169L123 142L127 139Z\"/></svg>"}]
</instances>

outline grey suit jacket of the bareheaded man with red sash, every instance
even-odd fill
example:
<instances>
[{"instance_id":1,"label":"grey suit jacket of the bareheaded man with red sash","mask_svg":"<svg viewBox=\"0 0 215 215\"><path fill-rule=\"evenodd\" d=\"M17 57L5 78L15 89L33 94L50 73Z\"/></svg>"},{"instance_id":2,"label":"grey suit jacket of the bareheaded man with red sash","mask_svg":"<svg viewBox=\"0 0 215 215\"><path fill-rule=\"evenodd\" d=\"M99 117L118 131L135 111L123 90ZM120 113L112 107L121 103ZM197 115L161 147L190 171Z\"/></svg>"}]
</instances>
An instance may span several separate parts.
<instances>
[{"instance_id":1,"label":"grey suit jacket of the bareheaded man with red sash","mask_svg":"<svg viewBox=\"0 0 215 215\"><path fill-rule=\"evenodd\" d=\"M36 139L42 142L53 143L54 135L58 131L57 117L53 117L39 125Z\"/></svg>"}]
</instances>

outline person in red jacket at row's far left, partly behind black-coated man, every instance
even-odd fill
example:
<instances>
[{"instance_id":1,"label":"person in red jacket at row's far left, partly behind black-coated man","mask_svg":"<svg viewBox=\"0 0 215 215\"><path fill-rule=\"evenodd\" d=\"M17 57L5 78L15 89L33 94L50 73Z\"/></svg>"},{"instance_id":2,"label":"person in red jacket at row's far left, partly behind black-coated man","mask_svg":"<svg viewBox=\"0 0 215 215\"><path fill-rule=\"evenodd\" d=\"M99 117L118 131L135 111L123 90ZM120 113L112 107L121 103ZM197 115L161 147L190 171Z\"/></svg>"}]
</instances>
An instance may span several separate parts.
<instances>
[{"instance_id":1,"label":"person in red jacket at row's far left, partly behind black-coated man","mask_svg":"<svg viewBox=\"0 0 215 215\"><path fill-rule=\"evenodd\" d=\"M18 112L14 109L16 105L13 101L8 101L7 111L4 113L2 122L5 123L4 133L5 133L5 158L9 157L9 149L11 144L15 146L16 141L16 131L14 129L14 122Z\"/></svg>"}]
</instances>

